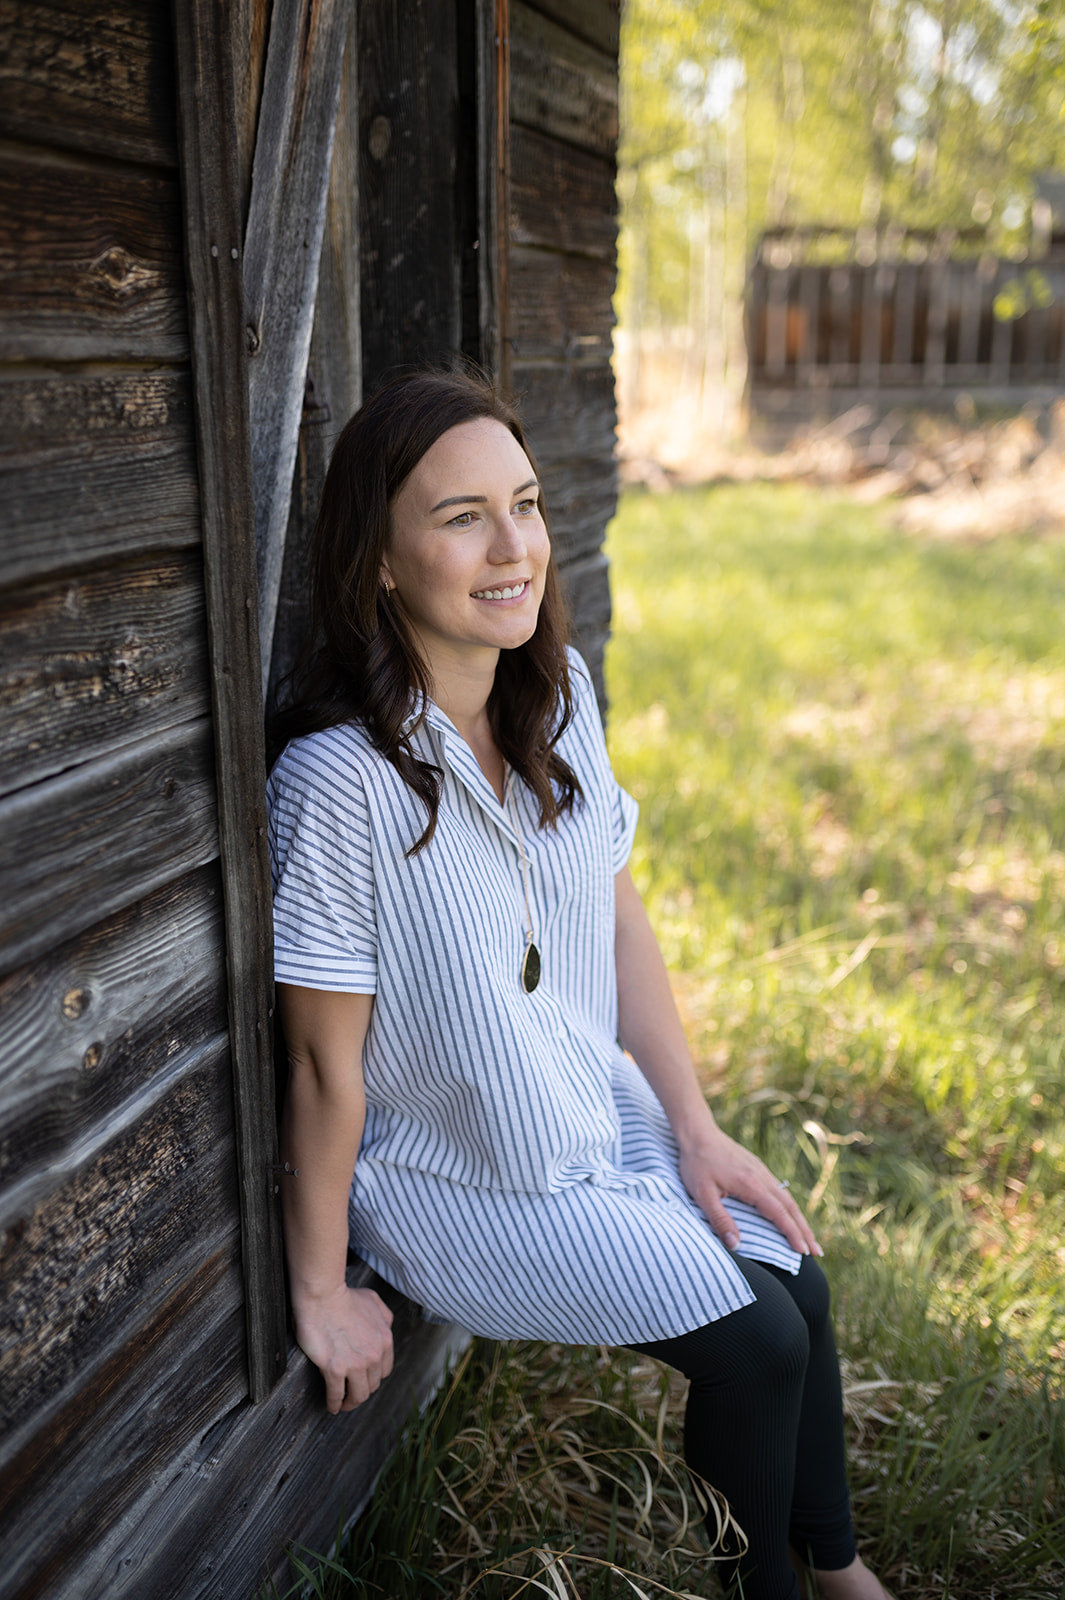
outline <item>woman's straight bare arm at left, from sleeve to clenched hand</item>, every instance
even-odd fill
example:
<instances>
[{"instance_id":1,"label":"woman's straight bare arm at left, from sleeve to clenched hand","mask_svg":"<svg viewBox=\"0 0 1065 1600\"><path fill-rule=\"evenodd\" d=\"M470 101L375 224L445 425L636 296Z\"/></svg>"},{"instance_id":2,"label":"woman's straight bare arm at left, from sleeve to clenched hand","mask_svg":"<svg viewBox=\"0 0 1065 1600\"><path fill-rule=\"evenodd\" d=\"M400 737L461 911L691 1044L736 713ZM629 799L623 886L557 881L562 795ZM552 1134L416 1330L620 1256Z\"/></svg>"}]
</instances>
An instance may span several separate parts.
<instances>
[{"instance_id":1,"label":"woman's straight bare arm at left, from sleeve to clenched hand","mask_svg":"<svg viewBox=\"0 0 1065 1600\"><path fill-rule=\"evenodd\" d=\"M296 1338L325 1378L328 1410L352 1411L392 1371L392 1312L344 1282L374 997L278 984L278 1003L289 1059L281 1160L297 1173L283 1181Z\"/></svg>"}]
</instances>

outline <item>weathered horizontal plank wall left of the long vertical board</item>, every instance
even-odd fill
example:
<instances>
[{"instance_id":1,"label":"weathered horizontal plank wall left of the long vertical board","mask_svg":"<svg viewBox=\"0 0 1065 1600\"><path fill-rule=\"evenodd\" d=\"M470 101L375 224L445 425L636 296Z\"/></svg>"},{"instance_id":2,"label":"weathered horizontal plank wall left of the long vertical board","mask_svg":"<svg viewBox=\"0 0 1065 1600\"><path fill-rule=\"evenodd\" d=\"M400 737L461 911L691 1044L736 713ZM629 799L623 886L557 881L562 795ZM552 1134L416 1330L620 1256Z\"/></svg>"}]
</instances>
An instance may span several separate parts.
<instances>
[{"instance_id":1,"label":"weathered horizontal plank wall left of the long vertical board","mask_svg":"<svg viewBox=\"0 0 1065 1600\"><path fill-rule=\"evenodd\" d=\"M245 182L265 11L233 8ZM237 1597L329 1546L453 1334L397 1299L390 1392L331 1419L289 1347L249 1403L171 13L3 22L0 1592Z\"/></svg>"}]
</instances>

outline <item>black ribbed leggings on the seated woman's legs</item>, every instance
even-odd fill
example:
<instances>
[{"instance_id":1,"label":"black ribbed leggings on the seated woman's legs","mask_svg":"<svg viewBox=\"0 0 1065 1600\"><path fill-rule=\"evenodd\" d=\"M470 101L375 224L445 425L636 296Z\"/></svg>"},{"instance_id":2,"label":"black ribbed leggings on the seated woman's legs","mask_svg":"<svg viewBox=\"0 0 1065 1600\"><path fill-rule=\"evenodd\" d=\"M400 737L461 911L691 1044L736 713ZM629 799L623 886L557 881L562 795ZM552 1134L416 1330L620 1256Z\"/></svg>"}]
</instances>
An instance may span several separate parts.
<instances>
[{"instance_id":1,"label":"black ribbed leggings on the seated woman's legs","mask_svg":"<svg viewBox=\"0 0 1065 1600\"><path fill-rule=\"evenodd\" d=\"M726 1586L744 1600L800 1600L788 1542L825 1570L856 1555L828 1283L811 1256L798 1275L734 1261L758 1296L752 1306L632 1349L691 1379L684 1459L726 1496L748 1539L723 1570Z\"/></svg>"}]
</instances>

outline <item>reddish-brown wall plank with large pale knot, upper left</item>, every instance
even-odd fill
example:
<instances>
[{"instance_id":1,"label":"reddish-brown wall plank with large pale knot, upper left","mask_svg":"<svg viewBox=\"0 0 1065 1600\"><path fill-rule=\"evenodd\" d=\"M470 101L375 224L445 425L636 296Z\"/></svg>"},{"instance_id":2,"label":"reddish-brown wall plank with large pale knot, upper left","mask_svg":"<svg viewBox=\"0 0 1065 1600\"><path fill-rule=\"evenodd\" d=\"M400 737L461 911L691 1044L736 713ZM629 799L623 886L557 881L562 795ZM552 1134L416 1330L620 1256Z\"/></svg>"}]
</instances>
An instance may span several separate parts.
<instances>
[{"instance_id":1,"label":"reddish-brown wall plank with large pale knot, upper left","mask_svg":"<svg viewBox=\"0 0 1065 1600\"><path fill-rule=\"evenodd\" d=\"M0 166L0 360L184 357L179 242L170 174L8 152Z\"/></svg>"}]
</instances>

